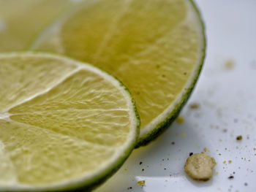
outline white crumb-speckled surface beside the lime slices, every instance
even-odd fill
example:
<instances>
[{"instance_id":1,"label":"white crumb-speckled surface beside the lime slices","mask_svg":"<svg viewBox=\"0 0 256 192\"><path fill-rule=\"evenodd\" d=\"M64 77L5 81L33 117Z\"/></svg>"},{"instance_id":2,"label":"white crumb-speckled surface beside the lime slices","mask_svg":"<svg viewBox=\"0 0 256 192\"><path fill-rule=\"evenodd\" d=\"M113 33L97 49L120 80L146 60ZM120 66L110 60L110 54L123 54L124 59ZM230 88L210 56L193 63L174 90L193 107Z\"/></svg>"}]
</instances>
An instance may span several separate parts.
<instances>
[{"instance_id":1,"label":"white crumb-speckled surface beside the lime slices","mask_svg":"<svg viewBox=\"0 0 256 192\"><path fill-rule=\"evenodd\" d=\"M134 150L97 192L256 191L256 1L196 2L208 46L203 72L181 112L184 123L173 123L155 142ZM190 109L192 103L199 109ZM184 163L204 147L217 166L211 180L195 182L184 173Z\"/></svg>"}]
</instances>

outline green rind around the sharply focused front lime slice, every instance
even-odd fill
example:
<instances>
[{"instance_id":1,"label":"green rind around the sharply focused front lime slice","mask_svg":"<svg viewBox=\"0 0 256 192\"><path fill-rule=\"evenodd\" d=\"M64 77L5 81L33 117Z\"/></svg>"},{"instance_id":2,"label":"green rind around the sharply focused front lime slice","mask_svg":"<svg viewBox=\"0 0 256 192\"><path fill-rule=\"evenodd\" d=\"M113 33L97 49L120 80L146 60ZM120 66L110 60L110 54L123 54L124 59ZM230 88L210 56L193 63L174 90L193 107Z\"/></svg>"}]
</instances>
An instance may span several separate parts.
<instances>
[{"instance_id":1,"label":"green rind around the sharply focused front lime slice","mask_svg":"<svg viewBox=\"0 0 256 192\"><path fill-rule=\"evenodd\" d=\"M84 62L81 61L76 61L73 58L69 58L67 56L63 56L63 55L59 55L56 53L42 53L39 51L23 51L23 52L11 52L11 53L0 53L0 57L3 55L12 55L12 54L33 54L33 55L50 55L56 58L66 58L69 61L72 62L78 62L78 63L82 63L85 65L89 65L92 66L91 64L86 64ZM99 174L95 177L91 177L91 179L89 180L82 180L81 182L78 183L65 183L65 184L59 184L59 185L54 185L54 186L47 186L45 185L45 187L37 187L37 186L22 186L22 187L6 187L6 188L2 188L0 186L0 191L92 191L94 188L97 188L100 184L104 183L106 180L108 180L114 173L116 173L118 171L118 169L124 164L124 162L127 160L127 158L129 157L129 155L132 153L132 150L134 150L139 135L140 135L140 117L138 115L138 110L135 104L135 99L132 98L131 93L129 92L129 89L120 81L118 80L116 77L113 77L113 75L109 74L108 72L105 72L104 70L98 68L97 66L92 66L93 68L98 69L100 72L108 74L108 76L112 77L113 79L115 79L121 88L124 89L124 91L126 93L128 93L128 96L130 97L130 101L132 104L132 108L133 108L133 112L135 113L135 121L136 121L136 126L135 126L135 130L134 132L134 137L132 138L132 140L129 142L129 146L127 147L127 149L124 150L124 153L116 159L115 163L110 164L110 166L108 166L107 169L105 169L102 172L99 172Z\"/></svg>"}]
</instances>

